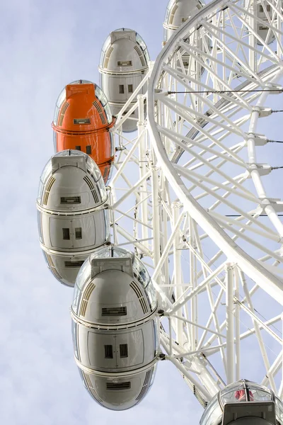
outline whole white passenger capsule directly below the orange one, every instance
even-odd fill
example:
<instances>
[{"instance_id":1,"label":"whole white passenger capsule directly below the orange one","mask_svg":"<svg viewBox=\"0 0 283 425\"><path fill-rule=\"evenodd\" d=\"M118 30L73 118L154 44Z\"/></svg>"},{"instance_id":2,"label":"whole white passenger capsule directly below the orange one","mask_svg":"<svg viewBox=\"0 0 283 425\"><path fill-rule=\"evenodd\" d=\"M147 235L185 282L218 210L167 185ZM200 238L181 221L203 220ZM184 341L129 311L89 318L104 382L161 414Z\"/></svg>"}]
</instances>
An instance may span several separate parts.
<instances>
[{"instance_id":1,"label":"whole white passenger capsule directly below the orange one","mask_svg":"<svg viewBox=\"0 0 283 425\"><path fill-rule=\"evenodd\" d=\"M42 172L37 197L40 244L53 275L74 286L83 261L110 237L105 184L87 154L62 151Z\"/></svg>"}]
</instances>

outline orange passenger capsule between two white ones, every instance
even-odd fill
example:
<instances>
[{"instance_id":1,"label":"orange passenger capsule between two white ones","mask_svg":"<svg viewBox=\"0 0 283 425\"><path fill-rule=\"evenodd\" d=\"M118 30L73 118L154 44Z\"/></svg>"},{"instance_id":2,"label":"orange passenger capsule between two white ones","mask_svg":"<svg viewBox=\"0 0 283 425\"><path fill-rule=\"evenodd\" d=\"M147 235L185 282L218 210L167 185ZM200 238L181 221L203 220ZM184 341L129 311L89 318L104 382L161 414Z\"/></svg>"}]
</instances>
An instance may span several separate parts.
<instances>
[{"instance_id":1,"label":"orange passenger capsule between two white ones","mask_svg":"<svg viewBox=\"0 0 283 425\"><path fill-rule=\"evenodd\" d=\"M88 154L98 165L105 183L114 162L115 123L103 91L91 81L68 84L57 99L54 121L54 149L76 149Z\"/></svg>"}]
</instances>

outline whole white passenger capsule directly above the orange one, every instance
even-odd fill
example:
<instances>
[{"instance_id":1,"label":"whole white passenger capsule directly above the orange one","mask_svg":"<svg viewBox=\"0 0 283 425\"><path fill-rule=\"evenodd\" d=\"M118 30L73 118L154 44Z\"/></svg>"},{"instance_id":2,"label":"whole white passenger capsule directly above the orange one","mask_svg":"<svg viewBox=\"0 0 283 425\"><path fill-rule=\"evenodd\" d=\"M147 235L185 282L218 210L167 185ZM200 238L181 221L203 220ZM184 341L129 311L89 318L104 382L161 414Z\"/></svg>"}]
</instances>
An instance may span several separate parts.
<instances>
[{"instance_id":1,"label":"whole white passenger capsule directly above the orange one","mask_svg":"<svg viewBox=\"0 0 283 425\"><path fill-rule=\"evenodd\" d=\"M120 28L106 38L100 55L100 86L108 98L112 115L117 115L149 70L149 52L134 30ZM143 87L139 94L144 94ZM134 98L125 113L134 105ZM138 110L122 125L122 130L137 130Z\"/></svg>"}]
</instances>

